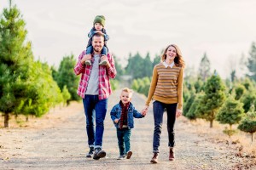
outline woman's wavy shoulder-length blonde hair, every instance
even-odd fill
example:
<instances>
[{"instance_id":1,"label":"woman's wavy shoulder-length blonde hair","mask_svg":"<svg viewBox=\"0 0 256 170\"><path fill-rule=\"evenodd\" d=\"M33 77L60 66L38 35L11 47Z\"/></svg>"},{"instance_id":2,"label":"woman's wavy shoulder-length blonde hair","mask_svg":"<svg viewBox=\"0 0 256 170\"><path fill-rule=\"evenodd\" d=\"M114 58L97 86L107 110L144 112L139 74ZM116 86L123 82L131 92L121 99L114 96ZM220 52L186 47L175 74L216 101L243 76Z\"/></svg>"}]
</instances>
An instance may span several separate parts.
<instances>
[{"instance_id":1,"label":"woman's wavy shoulder-length blonde hair","mask_svg":"<svg viewBox=\"0 0 256 170\"><path fill-rule=\"evenodd\" d=\"M166 60L166 52L168 48L173 47L176 49L177 56L174 58L174 63L177 66L185 67L185 61L183 59L183 54L181 53L180 49L175 44L168 45L164 50L163 54L161 55L161 61L164 62Z\"/></svg>"}]
</instances>

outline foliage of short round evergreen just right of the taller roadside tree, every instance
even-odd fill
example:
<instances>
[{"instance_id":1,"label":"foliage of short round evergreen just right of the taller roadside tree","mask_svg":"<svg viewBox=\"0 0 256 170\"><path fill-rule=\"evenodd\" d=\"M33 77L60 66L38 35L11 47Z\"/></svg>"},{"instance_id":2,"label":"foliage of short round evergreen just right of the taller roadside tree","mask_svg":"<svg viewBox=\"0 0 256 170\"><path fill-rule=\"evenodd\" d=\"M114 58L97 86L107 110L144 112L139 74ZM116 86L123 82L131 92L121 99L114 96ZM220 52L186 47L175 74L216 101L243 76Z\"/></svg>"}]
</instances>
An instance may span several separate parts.
<instances>
[{"instance_id":1,"label":"foliage of short round evergreen just right of the taller roadside tree","mask_svg":"<svg viewBox=\"0 0 256 170\"><path fill-rule=\"evenodd\" d=\"M237 124L244 116L244 110L242 103L239 100L234 99L232 95L225 100L224 105L218 111L216 120L222 124Z\"/></svg>"}]
</instances>

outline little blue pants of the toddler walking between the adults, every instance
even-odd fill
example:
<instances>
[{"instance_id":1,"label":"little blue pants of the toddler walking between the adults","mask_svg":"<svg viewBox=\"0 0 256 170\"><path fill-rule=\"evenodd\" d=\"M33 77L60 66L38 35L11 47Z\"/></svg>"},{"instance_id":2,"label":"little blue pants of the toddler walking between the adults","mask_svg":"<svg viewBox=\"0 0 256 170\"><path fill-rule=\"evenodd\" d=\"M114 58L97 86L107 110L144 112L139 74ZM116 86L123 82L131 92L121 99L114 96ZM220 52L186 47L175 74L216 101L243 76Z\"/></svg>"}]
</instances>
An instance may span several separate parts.
<instances>
[{"instance_id":1,"label":"little blue pants of the toddler walking between the adults","mask_svg":"<svg viewBox=\"0 0 256 170\"><path fill-rule=\"evenodd\" d=\"M128 127L122 129L117 128L116 134L119 139L119 154L120 156L125 156L130 150L131 129Z\"/></svg>"}]
</instances>

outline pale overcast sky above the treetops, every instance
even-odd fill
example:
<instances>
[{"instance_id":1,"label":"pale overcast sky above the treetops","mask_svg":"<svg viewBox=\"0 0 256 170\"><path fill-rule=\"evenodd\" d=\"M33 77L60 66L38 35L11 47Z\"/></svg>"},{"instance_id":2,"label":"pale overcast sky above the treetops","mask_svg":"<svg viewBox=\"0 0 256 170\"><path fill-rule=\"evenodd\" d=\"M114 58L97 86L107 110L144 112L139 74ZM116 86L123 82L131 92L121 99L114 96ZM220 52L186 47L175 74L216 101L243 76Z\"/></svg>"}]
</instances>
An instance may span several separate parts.
<instances>
[{"instance_id":1,"label":"pale overcast sky above the treetops","mask_svg":"<svg viewBox=\"0 0 256 170\"><path fill-rule=\"evenodd\" d=\"M206 53L212 71L228 77L256 42L254 0L13 0L13 4L26 21L35 59L55 67L64 56L73 54L77 59L86 48L96 15L105 16L108 48L123 66L129 54L149 53L153 59L174 43L195 71ZM8 6L9 0L0 0L1 14Z\"/></svg>"}]
</instances>

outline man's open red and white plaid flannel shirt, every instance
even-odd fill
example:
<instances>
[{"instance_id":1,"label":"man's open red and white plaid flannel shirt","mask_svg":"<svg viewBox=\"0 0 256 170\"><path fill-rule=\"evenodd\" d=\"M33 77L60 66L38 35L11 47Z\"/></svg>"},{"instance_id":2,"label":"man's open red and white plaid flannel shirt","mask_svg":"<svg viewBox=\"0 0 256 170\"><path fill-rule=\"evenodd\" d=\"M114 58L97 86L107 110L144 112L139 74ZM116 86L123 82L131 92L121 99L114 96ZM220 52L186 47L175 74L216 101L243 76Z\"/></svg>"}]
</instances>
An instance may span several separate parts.
<instances>
[{"instance_id":1,"label":"man's open red and white plaid flannel shirt","mask_svg":"<svg viewBox=\"0 0 256 170\"><path fill-rule=\"evenodd\" d=\"M92 65L82 65L81 59L83 59L84 54L85 51L83 51L82 54L79 55L79 61L73 69L76 75L82 74L79 82L79 88L77 91L79 96L82 98L84 98L84 94L88 87L90 72L92 69ZM112 94L109 78L114 78L116 75L113 56L108 53L107 57L110 63L109 68L107 68L107 66L99 65L99 99L107 99L108 96Z\"/></svg>"}]
</instances>

